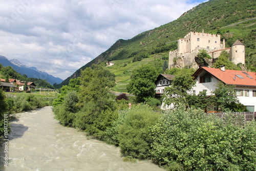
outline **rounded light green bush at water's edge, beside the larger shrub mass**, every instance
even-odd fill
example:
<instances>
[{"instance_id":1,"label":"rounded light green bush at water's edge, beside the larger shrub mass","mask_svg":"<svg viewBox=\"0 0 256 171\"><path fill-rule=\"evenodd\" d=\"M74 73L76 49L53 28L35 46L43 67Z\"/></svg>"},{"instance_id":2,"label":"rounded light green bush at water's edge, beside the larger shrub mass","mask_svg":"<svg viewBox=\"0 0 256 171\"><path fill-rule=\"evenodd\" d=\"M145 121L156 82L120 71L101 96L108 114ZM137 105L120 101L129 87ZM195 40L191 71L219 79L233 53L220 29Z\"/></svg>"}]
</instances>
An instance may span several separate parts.
<instances>
[{"instance_id":1,"label":"rounded light green bush at water's edge, beside the larger shrub mass","mask_svg":"<svg viewBox=\"0 0 256 171\"><path fill-rule=\"evenodd\" d=\"M118 130L118 141L121 152L125 156L145 159L151 144L148 136L150 126L154 125L159 114L147 105L129 110Z\"/></svg>"}]
</instances>

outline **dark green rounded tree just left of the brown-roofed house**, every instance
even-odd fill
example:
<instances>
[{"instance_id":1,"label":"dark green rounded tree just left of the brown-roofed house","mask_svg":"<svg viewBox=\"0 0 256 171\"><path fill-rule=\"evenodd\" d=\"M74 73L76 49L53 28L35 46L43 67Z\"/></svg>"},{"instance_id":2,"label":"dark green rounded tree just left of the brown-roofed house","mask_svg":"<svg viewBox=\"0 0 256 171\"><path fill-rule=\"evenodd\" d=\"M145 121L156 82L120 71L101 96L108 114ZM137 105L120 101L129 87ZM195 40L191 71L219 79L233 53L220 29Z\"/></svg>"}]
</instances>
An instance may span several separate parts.
<instances>
[{"instance_id":1,"label":"dark green rounded tree just left of the brown-roofed house","mask_svg":"<svg viewBox=\"0 0 256 171\"><path fill-rule=\"evenodd\" d=\"M157 74L156 69L151 65L136 68L127 85L128 92L133 93L138 102L144 102L147 98L154 97Z\"/></svg>"}]
</instances>

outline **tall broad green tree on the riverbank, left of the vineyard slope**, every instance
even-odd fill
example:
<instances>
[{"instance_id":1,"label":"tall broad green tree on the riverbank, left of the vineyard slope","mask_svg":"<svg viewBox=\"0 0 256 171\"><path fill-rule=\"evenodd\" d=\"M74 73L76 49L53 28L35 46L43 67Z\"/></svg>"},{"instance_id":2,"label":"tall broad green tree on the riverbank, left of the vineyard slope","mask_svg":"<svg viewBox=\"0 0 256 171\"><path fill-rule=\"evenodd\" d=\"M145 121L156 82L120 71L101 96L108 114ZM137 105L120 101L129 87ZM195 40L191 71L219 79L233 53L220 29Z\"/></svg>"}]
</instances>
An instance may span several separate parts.
<instances>
[{"instance_id":1,"label":"tall broad green tree on the riverbank, left of the vineyard slope","mask_svg":"<svg viewBox=\"0 0 256 171\"><path fill-rule=\"evenodd\" d=\"M101 66L93 66L81 72L80 81L80 111L76 113L73 126L101 138L117 115L115 95L110 93L115 85L113 74Z\"/></svg>"}]
</instances>

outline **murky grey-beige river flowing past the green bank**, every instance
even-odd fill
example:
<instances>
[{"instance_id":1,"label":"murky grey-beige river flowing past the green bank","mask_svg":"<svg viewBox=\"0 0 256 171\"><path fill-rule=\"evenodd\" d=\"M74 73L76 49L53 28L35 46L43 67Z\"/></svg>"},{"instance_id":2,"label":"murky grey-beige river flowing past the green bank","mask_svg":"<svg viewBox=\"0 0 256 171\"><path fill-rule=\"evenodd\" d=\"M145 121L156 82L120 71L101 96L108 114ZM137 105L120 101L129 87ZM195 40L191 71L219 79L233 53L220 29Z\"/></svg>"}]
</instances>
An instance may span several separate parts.
<instances>
[{"instance_id":1,"label":"murky grey-beige river flowing past the green bank","mask_svg":"<svg viewBox=\"0 0 256 171\"><path fill-rule=\"evenodd\" d=\"M124 162L118 147L60 125L50 106L17 115L4 170L164 170L149 161Z\"/></svg>"}]
</instances>

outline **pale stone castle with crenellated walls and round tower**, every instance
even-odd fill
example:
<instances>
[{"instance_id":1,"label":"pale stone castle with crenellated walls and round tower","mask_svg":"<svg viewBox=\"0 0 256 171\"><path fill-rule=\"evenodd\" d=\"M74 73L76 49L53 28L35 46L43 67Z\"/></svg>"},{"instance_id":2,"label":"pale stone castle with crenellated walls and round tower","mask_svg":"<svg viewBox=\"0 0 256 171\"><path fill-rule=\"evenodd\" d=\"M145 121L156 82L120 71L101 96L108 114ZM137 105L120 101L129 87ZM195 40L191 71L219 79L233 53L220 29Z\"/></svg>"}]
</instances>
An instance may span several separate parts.
<instances>
[{"instance_id":1,"label":"pale stone castle with crenellated walls and round tower","mask_svg":"<svg viewBox=\"0 0 256 171\"><path fill-rule=\"evenodd\" d=\"M225 39L221 44L220 34L209 34L199 32L190 32L184 38L178 40L178 49L169 52L169 69L183 68L189 66L197 69L199 67L196 62L196 56L199 50L206 50L212 57L207 63L212 66L212 61L220 56L225 50L229 53L229 60L235 63L245 63L245 46L237 40L231 48L225 48Z\"/></svg>"}]
</instances>

